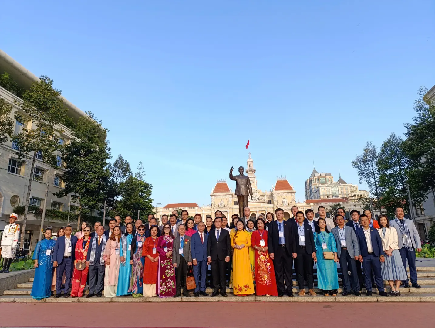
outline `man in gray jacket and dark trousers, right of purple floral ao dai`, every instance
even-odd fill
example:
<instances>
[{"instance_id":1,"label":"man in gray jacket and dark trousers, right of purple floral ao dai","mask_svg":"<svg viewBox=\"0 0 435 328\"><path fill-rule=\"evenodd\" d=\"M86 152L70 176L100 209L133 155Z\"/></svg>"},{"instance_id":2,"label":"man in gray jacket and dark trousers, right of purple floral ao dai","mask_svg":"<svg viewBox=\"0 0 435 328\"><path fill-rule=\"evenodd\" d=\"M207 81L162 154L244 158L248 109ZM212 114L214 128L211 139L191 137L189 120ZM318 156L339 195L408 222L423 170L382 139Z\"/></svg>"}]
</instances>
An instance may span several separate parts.
<instances>
[{"instance_id":1,"label":"man in gray jacket and dark trousers, right of purple floral ao dai","mask_svg":"<svg viewBox=\"0 0 435 328\"><path fill-rule=\"evenodd\" d=\"M186 289L186 277L189 266L192 265L192 254L190 247L190 237L185 235L186 227L184 224L178 225L178 236L174 239L174 248L172 253L172 264L175 268L175 286L177 292L174 297L181 296L181 286L183 295L190 297Z\"/></svg>"}]
</instances>

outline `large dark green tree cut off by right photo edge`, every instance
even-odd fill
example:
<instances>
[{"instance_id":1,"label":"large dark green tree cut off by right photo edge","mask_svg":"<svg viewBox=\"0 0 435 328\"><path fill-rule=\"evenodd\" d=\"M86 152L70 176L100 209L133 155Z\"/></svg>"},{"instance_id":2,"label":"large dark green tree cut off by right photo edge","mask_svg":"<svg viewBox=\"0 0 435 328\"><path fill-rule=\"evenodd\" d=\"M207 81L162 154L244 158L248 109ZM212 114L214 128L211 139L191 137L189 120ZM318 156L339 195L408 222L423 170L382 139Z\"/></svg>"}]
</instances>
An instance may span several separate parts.
<instances>
[{"instance_id":1,"label":"large dark green tree cut off by right photo edge","mask_svg":"<svg viewBox=\"0 0 435 328\"><path fill-rule=\"evenodd\" d=\"M407 132L403 150L407 157L406 173L412 200L423 202L428 193L435 197L435 103L426 102L427 88L420 87L419 98L414 101L417 115L412 123L405 124Z\"/></svg>"}]
</instances>

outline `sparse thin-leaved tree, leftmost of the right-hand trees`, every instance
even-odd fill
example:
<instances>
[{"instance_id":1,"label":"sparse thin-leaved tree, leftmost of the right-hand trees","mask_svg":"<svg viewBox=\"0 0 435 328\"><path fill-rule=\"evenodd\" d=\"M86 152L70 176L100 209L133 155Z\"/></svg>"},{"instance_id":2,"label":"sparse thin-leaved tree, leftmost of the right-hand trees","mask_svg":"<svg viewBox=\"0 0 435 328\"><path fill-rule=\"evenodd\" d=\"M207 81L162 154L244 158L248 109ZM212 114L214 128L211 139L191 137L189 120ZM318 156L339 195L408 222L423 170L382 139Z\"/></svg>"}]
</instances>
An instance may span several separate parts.
<instances>
[{"instance_id":1,"label":"sparse thin-leaved tree, leftmost of the right-hand trees","mask_svg":"<svg viewBox=\"0 0 435 328\"><path fill-rule=\"evenodd\" d=\"M376 196L379 202L379 172L376 166L378 160L378 149L370 141L367 142L361 155L352 161L352 167L357 170L360 183L366 183L372 195ZM378 210L381 210L379 207Z\"/></svg>"}]
</instances>

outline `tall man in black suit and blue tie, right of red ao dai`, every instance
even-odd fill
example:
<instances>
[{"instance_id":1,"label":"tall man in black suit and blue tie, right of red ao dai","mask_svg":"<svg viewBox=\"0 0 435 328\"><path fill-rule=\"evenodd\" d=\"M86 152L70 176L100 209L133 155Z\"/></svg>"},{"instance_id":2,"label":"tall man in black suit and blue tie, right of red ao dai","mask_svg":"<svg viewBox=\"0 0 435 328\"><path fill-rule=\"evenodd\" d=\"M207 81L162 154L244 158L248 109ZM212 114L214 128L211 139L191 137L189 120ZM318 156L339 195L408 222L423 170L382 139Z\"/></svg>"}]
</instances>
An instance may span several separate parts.
<instances>
[{"instance_id":1,"label":"tall man in black suit and blue tie, right of red ao dai","mask_svg":"<svg viewBox=\"0 0 435 328\"><path fill-rule=\"evenodd\" d=\"M284 296L287 291L287 295L293 297L292 275L293 259L296 258L294 251L296 245L291 231L291 223L284 221L284 210L276 209L275 216L276 221L271 221L268 224L268 250L275 268L278 296Z\"/></svg>"}]
</instances>

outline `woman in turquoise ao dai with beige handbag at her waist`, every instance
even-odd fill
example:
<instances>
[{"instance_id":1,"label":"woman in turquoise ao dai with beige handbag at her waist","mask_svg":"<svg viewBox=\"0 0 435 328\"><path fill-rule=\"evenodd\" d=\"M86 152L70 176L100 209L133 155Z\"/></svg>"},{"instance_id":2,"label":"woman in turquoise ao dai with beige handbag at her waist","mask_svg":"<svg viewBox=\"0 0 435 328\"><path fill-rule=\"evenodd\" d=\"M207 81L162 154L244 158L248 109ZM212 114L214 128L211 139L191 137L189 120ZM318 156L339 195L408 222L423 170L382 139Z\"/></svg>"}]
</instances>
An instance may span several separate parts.
<instances>
[{"instance_id":1,"label":"woman in turquoise ao dai with beige handbag at her waist","mask_svg":"<svg viewBox=\"0 0 435 328\"><path fill-rule=\"evenodd\" d=\"M317 288L321 289L325 296L336 296L338 291L337 274L337 246L334 235L326 228L326 221L318 218L317 224L320 228L319 233L314 233L317 257ZM326 244L326 248L323 248ZM334 252L334 260L325 260L323 252Z\"/></svg>"}]
</instances>

